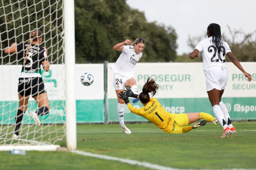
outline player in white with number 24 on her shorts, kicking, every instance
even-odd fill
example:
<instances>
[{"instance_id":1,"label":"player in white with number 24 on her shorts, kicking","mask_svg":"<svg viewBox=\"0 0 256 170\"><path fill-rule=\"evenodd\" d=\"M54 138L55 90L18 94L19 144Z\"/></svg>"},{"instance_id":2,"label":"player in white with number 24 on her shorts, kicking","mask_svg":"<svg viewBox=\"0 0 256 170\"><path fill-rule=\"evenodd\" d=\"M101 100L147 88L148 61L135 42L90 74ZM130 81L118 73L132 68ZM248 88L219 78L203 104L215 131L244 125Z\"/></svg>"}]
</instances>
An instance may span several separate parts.
<instances>
[{"instance_id":1,"label":"player in white with number 24 on her shorts, kicking","mask_svg":"<svg viewBox=\"0 0 256 170\"><path fill-rule=\"evenodd\" d=\"M131 46L131 41L126 39L122 43L116 44L113 49L116 51L122 51L116 63L110 68L114 70L113 86L116 90L118 99L117 113L121 130L125 134L131 134L131 131L124 125L124 100L119 98L119 93L124 91L125 87L130 87L134 94L138 94L138 86L134 79L134 67L142 56L142 50L145 46L145 40L143 38L137 38ZM125 46L128 44L128 46ZM137 103L138 98L133 98L132 102Z\"/></svg>"}]
</instances>

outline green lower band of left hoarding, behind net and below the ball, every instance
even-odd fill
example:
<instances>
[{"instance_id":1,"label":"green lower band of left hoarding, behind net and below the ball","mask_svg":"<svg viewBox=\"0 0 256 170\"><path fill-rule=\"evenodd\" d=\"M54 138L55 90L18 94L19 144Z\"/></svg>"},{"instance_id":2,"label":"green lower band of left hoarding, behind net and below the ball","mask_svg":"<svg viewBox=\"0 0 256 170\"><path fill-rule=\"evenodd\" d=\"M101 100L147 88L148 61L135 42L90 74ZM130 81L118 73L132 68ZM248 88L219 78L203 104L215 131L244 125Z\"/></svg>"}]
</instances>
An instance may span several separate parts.
<instances>
[{"instance_id":1,"label":"green lower band of left hoarding, behind net and below the ball","mask_svg":"<svg viewBox=\"0 0 256 170\"><path fill-rule=\"evenodd\" d=\"M104 100L77 100L77 123L102 123L104 122ZM14 124L18 101L0 101L0 124ZM33 124L29 117L30 111L38 109L36 101L29 101L28 109L23 117L23 124ZM50 101L50 112L39 117L41 124L65 123L65 101Z\"/></svg>"}]
</instances>

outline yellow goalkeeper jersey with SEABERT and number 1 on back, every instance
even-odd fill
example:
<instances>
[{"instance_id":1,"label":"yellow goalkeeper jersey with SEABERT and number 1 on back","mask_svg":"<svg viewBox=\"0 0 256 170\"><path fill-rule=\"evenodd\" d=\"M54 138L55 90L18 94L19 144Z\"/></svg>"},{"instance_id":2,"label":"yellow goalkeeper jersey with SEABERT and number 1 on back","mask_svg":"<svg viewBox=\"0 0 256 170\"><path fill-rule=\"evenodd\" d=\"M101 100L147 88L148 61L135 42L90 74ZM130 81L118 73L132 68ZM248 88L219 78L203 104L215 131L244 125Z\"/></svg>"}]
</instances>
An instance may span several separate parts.
<instances>
[{"instance_id":1,"label":"yellow goalkeeper jersey with SEABERT and number 1 on back","mask_svg":"<svg viewBox=\"0 0 256 170\"><path fill-rule=\"evenodd\" d=\"M176 114L166 112L156 98L150 98L145 108L135 109L132 104L128 104L128 108L132 113L145 117L166 133L169 133L173 127Z\"/></svg>"}]
</instances>

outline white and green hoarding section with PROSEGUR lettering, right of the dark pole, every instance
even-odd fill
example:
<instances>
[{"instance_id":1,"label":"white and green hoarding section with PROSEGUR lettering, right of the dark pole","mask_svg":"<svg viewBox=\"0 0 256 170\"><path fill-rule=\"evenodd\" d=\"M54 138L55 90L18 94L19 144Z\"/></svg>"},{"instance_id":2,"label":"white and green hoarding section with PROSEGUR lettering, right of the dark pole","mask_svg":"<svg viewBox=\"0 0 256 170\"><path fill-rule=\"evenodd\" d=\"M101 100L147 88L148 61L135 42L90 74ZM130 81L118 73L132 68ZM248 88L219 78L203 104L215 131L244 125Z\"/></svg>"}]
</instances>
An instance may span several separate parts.
<instances>
[{"instance_id":1,"label":"white and green hoarding section with PROSEGUR lettering, right of the dark pole","mask_svg":"<svg viewBox=\"0 0 256 170\"><path fill-rule=\"evenodd\" d=\"M109 63L108 68L112 64ZM227 106L231 120L256 120L256 63L241 62L241 65L252 75L252 81L248 82L233 63L227 63L228 81L222 101ZM155 79L159 84L159 89L154 97L159 100L167 112L206 112L214 115L206 93L203 63L137 63L134 71L133 77L136 80L139 93L149 76ZM113 85L117 85L113 79L114 71L108 69L108 121L110 122L119 121L117 96L113 87ZM132 103L132 105L135 108L143 106L140 102ZM147 120L132 114L125 106L124 121Z\"/></svg>"}]
</instances>

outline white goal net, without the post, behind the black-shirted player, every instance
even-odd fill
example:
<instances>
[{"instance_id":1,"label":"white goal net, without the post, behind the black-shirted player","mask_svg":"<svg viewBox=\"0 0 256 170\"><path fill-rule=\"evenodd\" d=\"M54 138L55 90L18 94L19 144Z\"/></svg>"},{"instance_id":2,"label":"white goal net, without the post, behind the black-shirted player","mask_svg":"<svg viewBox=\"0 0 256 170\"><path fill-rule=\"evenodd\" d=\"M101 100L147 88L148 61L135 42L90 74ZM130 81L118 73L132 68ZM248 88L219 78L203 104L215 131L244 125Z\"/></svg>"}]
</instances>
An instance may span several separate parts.
<instances>
[{"instance_id":1,"label":"white goal net, without the post, behind the black-shirted player","mask_svg":"<svg viewBox=\"0 0 256 170\"><path fill-rule=\"evenodd\" d=\"M64 1L64 0L63 0ZM5 145L63 145L66 116L66 80L64 64L64 2L62 0L2 0L0 3L0 147ZM36 126L31 111L39 109L32 96L13 139L15 117L19 109L18 79L24 53L5 53L12 43L24 44L33 30L42 32L40 47L48 50L50 70L40 72L47 91L50 110L39 116ZM37 49L33 49L37 50ZM65 145L64 145L65 146Z\"/></svg>"}]
</instances>

